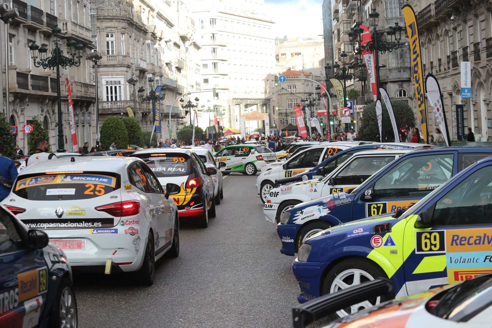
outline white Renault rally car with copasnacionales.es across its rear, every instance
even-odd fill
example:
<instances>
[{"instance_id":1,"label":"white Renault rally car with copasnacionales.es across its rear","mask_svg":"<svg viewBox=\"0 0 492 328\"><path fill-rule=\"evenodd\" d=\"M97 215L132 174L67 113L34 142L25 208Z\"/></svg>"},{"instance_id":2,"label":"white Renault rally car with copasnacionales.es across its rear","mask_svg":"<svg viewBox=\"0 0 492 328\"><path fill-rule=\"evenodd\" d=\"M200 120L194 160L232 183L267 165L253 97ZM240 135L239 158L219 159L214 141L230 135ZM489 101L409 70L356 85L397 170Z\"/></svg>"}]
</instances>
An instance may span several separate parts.
<instances>
[{"instance_id":1,"label":"white Renault rally car with copasnacionales.es across its rear","mask_svg":"<svg viewBox=\"0 0 492 328\"><path fill-rule=\"evenodd\" d=\"M3 204L48 233L73 270L137 271L154 282L155 261L179 254L176 204L134 157L77 157L28 165Z\"/></svg>"}]
</instances>

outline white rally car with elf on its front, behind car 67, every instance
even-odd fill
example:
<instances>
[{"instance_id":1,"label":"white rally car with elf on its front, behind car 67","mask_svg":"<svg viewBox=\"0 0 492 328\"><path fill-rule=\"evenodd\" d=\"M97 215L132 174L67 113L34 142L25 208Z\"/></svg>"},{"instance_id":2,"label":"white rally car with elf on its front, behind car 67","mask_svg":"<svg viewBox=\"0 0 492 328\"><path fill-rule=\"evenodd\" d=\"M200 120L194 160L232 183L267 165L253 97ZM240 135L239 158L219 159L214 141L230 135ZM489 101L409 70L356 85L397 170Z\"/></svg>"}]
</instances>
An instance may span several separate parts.
<instances>
[{"instance_id":1,"label":"white rally car with elf on its front, behind car 67","mask_svg":"<svg viewBox=\"0 0 492 328\"><path fill-rule=\"evenodd\" d=\"M270 190L263 204L268 222L279 222L291 207L314 198L354 189L382 167L415 149L366 150L352 155L322 179L296 182Z\"/></svg>"}]
</instances>

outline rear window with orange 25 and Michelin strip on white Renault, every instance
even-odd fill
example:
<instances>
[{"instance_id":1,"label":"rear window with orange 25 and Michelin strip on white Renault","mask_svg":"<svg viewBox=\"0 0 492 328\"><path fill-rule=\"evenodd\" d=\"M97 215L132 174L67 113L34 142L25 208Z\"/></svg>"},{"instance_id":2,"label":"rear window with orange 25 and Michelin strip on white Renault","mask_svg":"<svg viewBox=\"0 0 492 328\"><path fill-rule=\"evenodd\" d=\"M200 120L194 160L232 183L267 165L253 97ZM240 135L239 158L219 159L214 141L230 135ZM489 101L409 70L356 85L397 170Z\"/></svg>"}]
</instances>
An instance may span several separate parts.
<instances>
[{"instance_id":1,"label":"rear window with orange 25 and Michelin strip on white Renault","mask_svg":"<svg viewBox=\"0 0 492 328\"><path fill-rule=\"evenodd\" d=\"M17 178L14 194L29 200L90 199L120 188L118 174L109 172L42 174Z\"/></svg>"}]
</instances>

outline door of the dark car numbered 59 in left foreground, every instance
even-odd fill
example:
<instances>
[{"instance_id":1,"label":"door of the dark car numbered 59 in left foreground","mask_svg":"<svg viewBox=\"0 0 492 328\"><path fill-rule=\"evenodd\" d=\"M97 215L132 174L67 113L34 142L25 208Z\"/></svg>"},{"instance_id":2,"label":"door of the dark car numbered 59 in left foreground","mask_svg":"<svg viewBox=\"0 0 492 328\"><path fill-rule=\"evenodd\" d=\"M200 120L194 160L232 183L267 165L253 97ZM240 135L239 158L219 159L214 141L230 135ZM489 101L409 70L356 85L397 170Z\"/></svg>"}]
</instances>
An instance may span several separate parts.
<instances>
[{"instance_id":1,"label":"door of the dark car numbered 59 in left foreground","mask_svg":"<svg viewBox=\"0 0 492 328\"><path fill-rule=\"evenodd\" d=\"M0 208L0 327L35 327L46 304L48 268L30 251L22 227Z\"/></svg>"}]
</instances>

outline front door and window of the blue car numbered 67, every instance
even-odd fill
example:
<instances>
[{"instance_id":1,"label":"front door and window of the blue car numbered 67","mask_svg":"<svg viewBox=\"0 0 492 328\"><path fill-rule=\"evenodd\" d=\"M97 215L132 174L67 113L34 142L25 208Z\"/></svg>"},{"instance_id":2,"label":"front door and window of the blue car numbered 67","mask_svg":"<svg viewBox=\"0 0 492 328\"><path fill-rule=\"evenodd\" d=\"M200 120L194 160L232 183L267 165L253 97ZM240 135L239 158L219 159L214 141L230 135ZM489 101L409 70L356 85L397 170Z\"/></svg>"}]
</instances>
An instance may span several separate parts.
<instances>
[{"instance_id":1,"label":"front door and window of the blue car numbered 67","mask_svg":"<svg viewBox=\"0 0 492 328\"><path fill-rule=\"evenodd\" d=\"M416 203L457 172L457 152L418 153L389 165L358 191L353 220L391 213Z\"/></svg>"}]
</instances>

